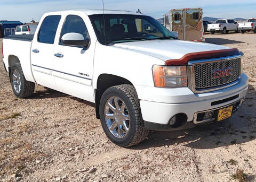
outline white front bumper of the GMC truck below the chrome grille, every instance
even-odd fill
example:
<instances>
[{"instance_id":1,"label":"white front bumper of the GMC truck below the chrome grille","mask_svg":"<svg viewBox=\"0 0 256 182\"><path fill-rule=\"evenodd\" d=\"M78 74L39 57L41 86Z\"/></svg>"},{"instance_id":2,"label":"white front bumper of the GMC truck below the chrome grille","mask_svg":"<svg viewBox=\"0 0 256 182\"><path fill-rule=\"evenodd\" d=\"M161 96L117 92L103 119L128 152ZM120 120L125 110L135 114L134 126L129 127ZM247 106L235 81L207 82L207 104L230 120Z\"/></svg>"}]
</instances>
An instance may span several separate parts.
<instances>
[{"instance_id":1,"label":"white front bumper of the GMC truck below the chrome grille","mask_svg":"<svg viewBox=\"0 0 256 182\"><path fill-rule=\"evenodd\" d=\"M142 91L137 91L139 99L141 99L141 113L146 127L148 125L160 124L166 125L163 127L169 128L170 119L177 114L185 114L187 116L187 122L183 126L189 125L189 127L194 127L194 125L199 125L193 122L197 112L215 110L244 99L248 89L248 77L242 74L239 83L234 86L199 94L191 92L188 88L167 89L167 91L165 89L165 92L159 88L151 89L147 89L147 94L154 96L154 92L156 92L158 96L150 98L150 101L141 99L143 98L141 96ZM147 97L147 94L145 94L145 97ZM171 130L182 128L172 128Z\"/></svg>"}]
</instances>

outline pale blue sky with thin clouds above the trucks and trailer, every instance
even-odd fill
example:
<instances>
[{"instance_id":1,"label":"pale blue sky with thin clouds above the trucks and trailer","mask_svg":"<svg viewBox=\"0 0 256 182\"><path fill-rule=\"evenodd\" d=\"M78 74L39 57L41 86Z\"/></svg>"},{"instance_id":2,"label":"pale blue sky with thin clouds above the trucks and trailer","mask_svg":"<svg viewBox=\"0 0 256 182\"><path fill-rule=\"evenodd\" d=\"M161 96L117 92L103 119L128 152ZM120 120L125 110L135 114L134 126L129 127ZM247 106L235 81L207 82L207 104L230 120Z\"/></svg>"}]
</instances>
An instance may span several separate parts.
<instances>
[{"instance_id":1,"label":"pale blue sky with thin clouds above the trucks and trailer","mask_svg":"<svg viewBox=\"0 0 256 182\"><path fill-rule=\"evenodd\" d=\"M203 16L213 18L253 18L255 0L104 0L106 10L137 11L162 18L172 8L202 7ZM46 12L59 10L99 10L102 0L0 0L0 20L39 21ZM255 17L256 18L256 17Z\"/></svg>"}]
</instances>

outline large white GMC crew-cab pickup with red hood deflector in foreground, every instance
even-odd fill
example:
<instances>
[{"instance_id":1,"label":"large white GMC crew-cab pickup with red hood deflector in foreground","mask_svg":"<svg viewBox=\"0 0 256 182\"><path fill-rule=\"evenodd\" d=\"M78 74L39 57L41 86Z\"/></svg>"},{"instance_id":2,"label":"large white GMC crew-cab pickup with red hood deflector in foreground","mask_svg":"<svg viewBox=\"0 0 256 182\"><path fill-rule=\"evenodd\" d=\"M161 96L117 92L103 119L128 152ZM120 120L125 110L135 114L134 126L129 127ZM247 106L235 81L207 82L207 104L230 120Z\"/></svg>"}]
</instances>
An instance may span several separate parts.
<instances>
[{"instance_id":1,"label":"large white GMC crew-cab pickup with red hood deflector in foreground","mask_svg":"<svg viewBox=\"0 0 256 182\"><path fill-rule=\"evenodd\" d=\"M3 55L15 96L31 96L37 83L93 102L103 131L123 147L149 130L225 120L248 88L242 52L178 40L154 18L126 11L46 13L34 37L4 38Z\"/></svg>"}]
</instances>

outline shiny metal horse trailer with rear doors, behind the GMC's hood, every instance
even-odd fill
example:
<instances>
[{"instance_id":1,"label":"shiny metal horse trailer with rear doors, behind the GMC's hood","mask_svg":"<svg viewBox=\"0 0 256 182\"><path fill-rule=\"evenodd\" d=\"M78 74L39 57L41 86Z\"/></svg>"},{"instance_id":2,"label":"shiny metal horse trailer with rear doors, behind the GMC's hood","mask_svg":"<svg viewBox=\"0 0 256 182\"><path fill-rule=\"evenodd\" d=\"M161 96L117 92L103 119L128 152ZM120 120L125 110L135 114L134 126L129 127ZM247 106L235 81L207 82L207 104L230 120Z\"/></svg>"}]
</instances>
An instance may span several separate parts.
<instances>
[{"instance_id":1,"label":"shiny metal horse trailer with rear doors, behind the GMC's hood","mask_svg":"<svg viewBox=\"0 0 256 182\"><path fill-rule=\"evenodd\" d=\"M164 14L164 26L181 40L205 41L202 8L172 9Z\"/></svg>"}]
</instances>

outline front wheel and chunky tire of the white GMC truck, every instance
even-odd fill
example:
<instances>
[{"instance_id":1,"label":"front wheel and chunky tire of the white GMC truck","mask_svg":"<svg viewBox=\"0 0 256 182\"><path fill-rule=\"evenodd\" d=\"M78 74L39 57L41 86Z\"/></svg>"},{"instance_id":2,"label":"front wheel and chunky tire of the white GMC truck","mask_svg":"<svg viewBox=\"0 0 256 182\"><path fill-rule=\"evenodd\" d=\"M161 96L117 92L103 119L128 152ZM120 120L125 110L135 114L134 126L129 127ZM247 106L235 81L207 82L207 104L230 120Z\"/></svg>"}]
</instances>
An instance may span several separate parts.
<instances>
[{"instance_id":1,"label":"front wheel and chunky tire of the white GMC truck","mask_svg":"<svg viewBox=\"0 0 256 182\"><path fill-rule=\"evenodd\" d=\"M122 147L142 142L149 133L144 126L140 102L132 85L112 86L103 93L100 120L109 140Z\"/></svg>"}]
</instances>

